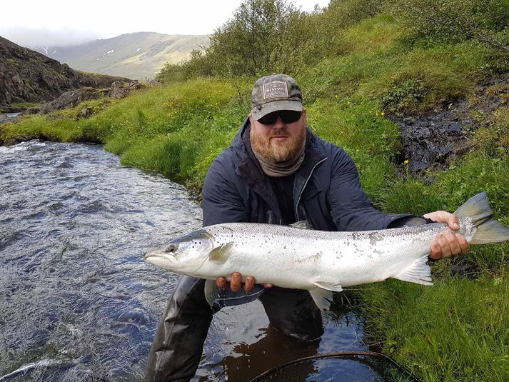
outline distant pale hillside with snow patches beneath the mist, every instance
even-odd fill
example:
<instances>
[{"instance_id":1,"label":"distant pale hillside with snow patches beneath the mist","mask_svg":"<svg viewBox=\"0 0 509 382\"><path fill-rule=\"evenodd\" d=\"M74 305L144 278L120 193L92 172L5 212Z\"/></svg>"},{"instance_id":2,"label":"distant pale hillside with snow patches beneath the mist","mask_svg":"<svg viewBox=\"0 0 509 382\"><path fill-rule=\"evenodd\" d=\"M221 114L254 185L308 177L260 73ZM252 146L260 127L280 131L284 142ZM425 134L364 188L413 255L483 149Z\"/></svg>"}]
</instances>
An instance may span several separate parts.
<instances>
[{"instance_id":1,"label":"distant pale hillside with snow patches beneath the mist","mask_svg":"<svg viewBox=\"0 0 509 382\"><path fill-rule=\"evenodd\" d=\"M76 69L130 79L146 79L153 78L167 62L181 62L193 49L207 45L208 36L205 35L138 32L76 46L34 49Z\"/></svg>"}]
</instances>

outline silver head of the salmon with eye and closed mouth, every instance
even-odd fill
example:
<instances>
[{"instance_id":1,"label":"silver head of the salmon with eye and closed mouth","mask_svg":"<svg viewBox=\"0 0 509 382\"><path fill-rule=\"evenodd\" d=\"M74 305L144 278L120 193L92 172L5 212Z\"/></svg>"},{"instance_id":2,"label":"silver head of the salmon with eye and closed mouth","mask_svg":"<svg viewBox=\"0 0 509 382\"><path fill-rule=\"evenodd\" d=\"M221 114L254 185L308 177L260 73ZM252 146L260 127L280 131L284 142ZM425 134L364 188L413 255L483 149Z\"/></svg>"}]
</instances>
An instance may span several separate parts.
<instances>
[{"instance_id":1,"label":"silver head of the salmon with eye and closed mouth","mask_svg":"<svg viewBox=\"0 0 509 382\"><path fill-rule=\"evenodd\" d=\"M207 260L212 249L211 233L201 228L173 239L161 249L148 251L145 259L155 266L192 275Z\"/></svg>"}]
</instances>

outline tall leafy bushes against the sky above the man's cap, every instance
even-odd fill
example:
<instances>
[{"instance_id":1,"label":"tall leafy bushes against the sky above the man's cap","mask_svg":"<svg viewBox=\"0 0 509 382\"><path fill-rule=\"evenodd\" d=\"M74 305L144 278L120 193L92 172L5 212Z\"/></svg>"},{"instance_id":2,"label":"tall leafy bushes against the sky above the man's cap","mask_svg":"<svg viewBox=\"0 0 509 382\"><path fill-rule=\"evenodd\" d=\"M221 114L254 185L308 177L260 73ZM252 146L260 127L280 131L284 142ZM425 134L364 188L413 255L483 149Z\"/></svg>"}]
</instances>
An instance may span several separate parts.
<instances>
[{"instance_id":1,"label":"tall leafy bushes against the sky above the man's cap","mask_svg":"<svg viewBox=\"0 0 509 382\"><path fill-rule=\"evenodd\" d=\"M182 64L166 64L156 78L169 82L196 76L296 75L336 52L344 43L338 37L341 29L376 15L380 4L331 1L323 12L307 14L286 0L246 0L212 34L206 51L193 51Z\"/></svg>"}]
</instances>

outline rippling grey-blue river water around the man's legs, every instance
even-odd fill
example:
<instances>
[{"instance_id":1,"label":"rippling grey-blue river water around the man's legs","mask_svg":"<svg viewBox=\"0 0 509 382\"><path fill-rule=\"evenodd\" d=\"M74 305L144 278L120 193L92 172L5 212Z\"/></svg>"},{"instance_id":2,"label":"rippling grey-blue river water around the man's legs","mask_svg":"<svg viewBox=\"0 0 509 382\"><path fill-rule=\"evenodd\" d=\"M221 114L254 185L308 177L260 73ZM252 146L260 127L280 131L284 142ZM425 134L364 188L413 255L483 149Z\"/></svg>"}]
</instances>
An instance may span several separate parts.
<instances>
[{"instance_id":1,"label":"rippling grey-blue river water around the man's legs","mask_svg":"<svg viewBox=\"0 0 509 382\"><path fill-rule=\"evenodd\" d=\"M199 226L186 189L101 146L0 147L0 381L140 381L178 279L143 253ZM258 301L225 308L195 379L246 381L295 358L368 350L355 313L325 323L320 343L298 343L268 328ZM289 380L385 381L377 365L316 361Z\"/></svg>"}]
</instances>

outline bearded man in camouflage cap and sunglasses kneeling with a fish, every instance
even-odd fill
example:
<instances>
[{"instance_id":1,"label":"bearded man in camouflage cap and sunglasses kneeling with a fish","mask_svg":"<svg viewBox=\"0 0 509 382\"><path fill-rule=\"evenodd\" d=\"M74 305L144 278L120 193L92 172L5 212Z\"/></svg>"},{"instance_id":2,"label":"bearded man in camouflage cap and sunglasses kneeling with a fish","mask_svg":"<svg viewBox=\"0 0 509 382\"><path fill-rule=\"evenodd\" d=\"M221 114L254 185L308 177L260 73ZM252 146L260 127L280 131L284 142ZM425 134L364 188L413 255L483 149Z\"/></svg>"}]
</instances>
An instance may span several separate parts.
<instances>
[{"instance_id":1,"label":"bearded man in camouflage cap and sunglasses kneeling with a fish","mask_svg":"<svg viewBox=\"0 0 509 382\"><path fill-rule=\"evenodd\" d=\"M306 109L296 81L275 74L256 81L251 114L241 131L211 165L203 185L203 226L227 222L291 224L306 219L324 231L366 231L426 223L448 223L457 231L458 218L445 211L418 217L382 213L373 208L358 179L352 159L343 149L314 135L306 124ZM430 258L465 253L461 235L435 238ZM225 275L227 276L227 275ZM233 273L217 279L238 301L258 298L271 327L301 341L323 334L321 312L308 291L255 286L256 279ZM215 311L229 299L218 298L213 309L203 293L204 280L183 276L158 326L148 361L148 381L188 381L198 367L208 327ZM221 296L220 296L221 297Z\"/></svg>"}]
</instances>

